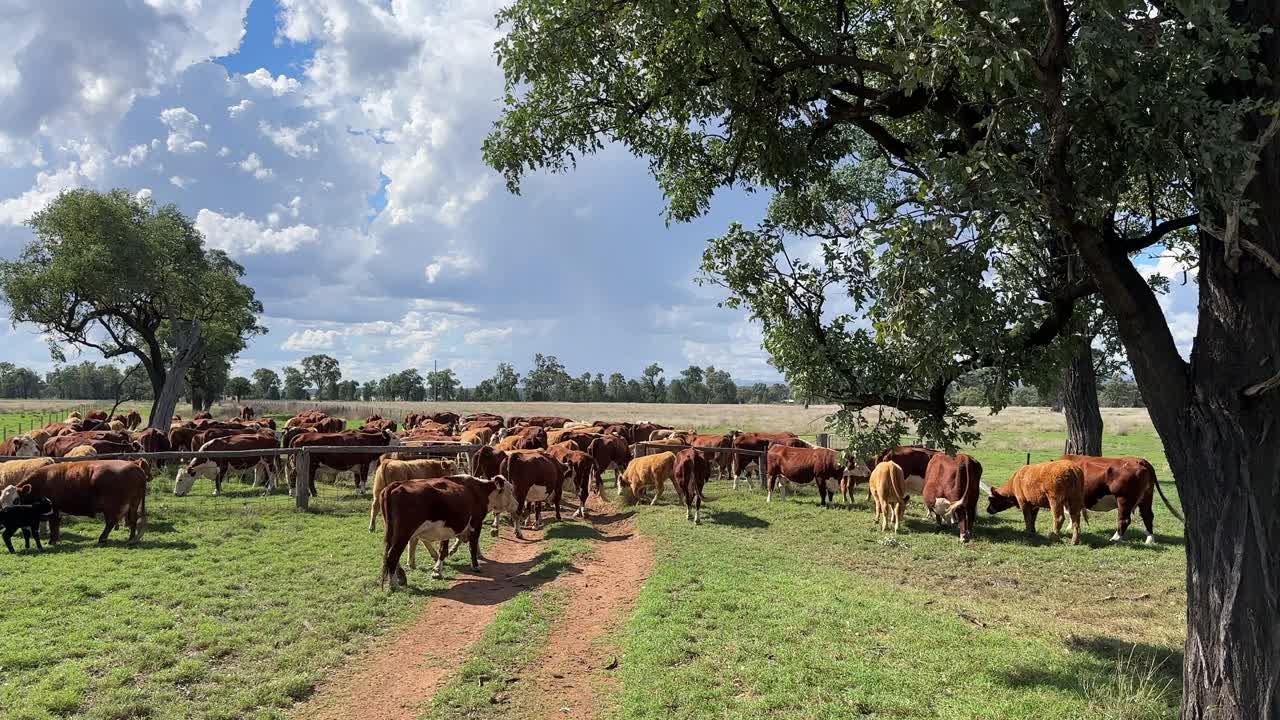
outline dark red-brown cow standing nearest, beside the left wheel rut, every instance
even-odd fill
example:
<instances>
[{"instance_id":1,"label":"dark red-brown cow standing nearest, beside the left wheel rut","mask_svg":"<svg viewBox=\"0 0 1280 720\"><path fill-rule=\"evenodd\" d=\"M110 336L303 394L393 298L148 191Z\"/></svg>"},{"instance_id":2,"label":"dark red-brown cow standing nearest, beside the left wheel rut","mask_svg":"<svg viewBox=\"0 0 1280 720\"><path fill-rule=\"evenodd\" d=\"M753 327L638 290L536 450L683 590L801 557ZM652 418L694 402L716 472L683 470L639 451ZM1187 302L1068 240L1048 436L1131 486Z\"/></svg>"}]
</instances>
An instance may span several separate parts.
<instances>
[{"instance_id":1,"label":"dark red-brown cow standing nearest, beside the left wheel rut","mask_svg":"<svg viewBox=\"0 0 1280 720\"><path fill-rule=\"evenodd\" d=\"M390 589L407 582L399 565L404 548L415 541L430 547L439 542L435 569L431 577L442 578L449 541L466 537L471 550L471 569L480 570L480 529L485 515L515 512L516 497L504 478L483 480L468 475L456 475L438 480L399 483L383 493L383 518L387 532L383 538L383 571L379 587L390 580ZM517 528L518 529L518 528ZM412 553L412 548L410 551Z\"/></svg>"}]
</instances>

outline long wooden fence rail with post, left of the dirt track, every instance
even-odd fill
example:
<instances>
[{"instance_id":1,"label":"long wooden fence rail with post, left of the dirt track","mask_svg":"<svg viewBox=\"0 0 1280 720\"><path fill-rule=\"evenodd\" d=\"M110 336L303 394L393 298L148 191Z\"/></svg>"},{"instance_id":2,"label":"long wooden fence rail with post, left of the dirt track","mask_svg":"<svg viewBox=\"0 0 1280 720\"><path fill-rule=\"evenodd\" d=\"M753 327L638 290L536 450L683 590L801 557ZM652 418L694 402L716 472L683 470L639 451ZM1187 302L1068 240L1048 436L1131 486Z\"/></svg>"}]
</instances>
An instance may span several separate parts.
<instances>
[{"instance_id":1,"label":"long wooden fence rail with post, left of the dirt track","mask_svg":"<svg viewBox=\"0 0 1280 720\"><path fill-rule=\"evenodd\" d=\"M316 446L316 447L270 447L260 450L192 450L170 452L108 452L102 455L90 455L86 457L51 457L54 462L83 462L88 460L154 460L154 461L184 461L184 460L219 460L242 457L297 457L298 482L294 486L294 500L298 510L310 506L311 461L314 455L390 455L401 456L433 456L433 455L462 455L468 457L480 450L480 445L438 443L438 445L372 445L372 446ZM0 456L4 460L33 460L33 457L17 457L12 455Z\"/></svg>"}]
</instances>

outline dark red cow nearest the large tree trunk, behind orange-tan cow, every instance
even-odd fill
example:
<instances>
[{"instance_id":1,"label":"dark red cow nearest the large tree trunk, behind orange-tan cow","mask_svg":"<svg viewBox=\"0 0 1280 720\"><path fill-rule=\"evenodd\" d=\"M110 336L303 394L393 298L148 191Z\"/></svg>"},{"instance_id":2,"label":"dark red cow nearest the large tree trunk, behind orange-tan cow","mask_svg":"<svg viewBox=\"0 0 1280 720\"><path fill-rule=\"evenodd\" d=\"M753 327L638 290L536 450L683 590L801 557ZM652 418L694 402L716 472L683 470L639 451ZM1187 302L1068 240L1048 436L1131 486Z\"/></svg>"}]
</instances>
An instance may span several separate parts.
<instances>
[{"instance_id":1,"label":"dark red cow nearest the large tree trunk, behind orange-tan cow","mask_svg":"<svg viewBox=\"0 0 1280 720\"><path fill-rule=\"evenodd\" d=\"M1093 457L1089 455L1064 455L1062 460L1078 462L1084 471L1084 509L1093 512L1116 511L1116 532L1111 542L1120 542L1133 519L1133 509L1142 515L1147 527L1147 544L1156 542L1155 512L1151 511L1153 491L1160 493L1165 507L1174 518L1183 520L1165 497L1156 479L1156 469L1143 457Z\"/></svg>"}]
</instances>

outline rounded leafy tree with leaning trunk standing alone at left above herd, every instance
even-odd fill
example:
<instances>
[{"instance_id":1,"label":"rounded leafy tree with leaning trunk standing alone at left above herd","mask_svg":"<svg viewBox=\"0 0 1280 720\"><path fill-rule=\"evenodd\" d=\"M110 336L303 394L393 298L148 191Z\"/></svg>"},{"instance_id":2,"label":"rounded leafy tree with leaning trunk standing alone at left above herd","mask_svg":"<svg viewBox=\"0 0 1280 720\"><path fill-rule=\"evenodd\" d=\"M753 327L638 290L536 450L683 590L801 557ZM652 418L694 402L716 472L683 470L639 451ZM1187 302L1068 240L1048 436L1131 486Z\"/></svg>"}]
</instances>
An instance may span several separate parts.
<instances>
[{"instance_id":1,"label":"rounded leafy tree with leaning trunk standing alone at left above herd","mask_svg":"<svg viewBox=\"0 0 1280 720\"><path fill-rule=\"evenodd\" d=\"M265 332L244 269L206 249L175 205L69 190L28 224L36 238L0 263L12 320L40 327L56 360L63 345L134 356L151 380L154 423L168 423L188 368Z\"/></svg>"}]
</instances>

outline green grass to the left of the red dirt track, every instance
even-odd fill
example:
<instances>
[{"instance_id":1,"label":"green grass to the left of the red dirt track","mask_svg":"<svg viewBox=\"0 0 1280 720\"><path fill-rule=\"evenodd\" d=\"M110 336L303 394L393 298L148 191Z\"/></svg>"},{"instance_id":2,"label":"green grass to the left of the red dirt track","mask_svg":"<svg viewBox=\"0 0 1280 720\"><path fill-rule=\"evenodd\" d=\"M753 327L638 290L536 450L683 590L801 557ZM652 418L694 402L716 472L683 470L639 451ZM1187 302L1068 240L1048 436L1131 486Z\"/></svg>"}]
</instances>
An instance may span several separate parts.
<instances>
[{"instance_id":1,"label":"green grass to the left of the red dirt track","mask_svg":"<svg viewBox=\"0 0 1280 720\"><path fill-rule=\"evenodd\" d=\"M223 497L207 480L189 497L172 487L152 482L138 547L123 544L124 530L99 547L101 523L79 520L52 551L0 553L0 607L10 609L0 612L0 716L278 717L447 587L417 571L410 592L380 591L383 534L364 527L369 501L349 489L321 487L302 514L236 482Z\"/></svg>"}]
</instances>

